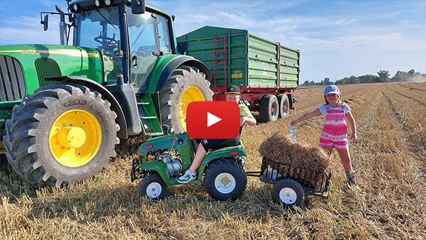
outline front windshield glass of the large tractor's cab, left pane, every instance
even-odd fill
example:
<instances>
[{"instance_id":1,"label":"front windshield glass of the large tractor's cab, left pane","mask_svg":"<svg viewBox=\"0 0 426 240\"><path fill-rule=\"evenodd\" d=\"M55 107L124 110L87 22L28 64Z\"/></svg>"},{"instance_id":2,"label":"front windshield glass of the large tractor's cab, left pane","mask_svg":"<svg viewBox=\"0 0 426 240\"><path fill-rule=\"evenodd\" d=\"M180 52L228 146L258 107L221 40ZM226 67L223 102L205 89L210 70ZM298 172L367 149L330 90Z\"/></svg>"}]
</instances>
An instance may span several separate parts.
<instances>
[{"instance_id":1,"label":"front windshield glass of the large tractor's cab, left pane","mask_svg":"<svg viewBox=\"0 0 426 240\"><path fill-rule=\"evenodd\" d=\"M76 20L75 45L101 50L107 82L115 82L123 69L122 59L114 55L121 50L118 6L83 11Z\"/></svg>"}]
</instances>

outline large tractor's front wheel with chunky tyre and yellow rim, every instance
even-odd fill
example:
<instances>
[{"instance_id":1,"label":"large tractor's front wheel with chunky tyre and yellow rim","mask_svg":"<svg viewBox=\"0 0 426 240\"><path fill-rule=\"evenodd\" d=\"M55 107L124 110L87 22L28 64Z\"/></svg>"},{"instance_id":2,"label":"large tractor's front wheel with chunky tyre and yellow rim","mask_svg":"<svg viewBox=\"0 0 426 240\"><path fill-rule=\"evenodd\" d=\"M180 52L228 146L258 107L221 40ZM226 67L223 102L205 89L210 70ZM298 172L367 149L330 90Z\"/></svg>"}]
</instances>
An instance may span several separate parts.
<instances>
[{"instance_id":1,"label":"large tractor's front wheel with chunky tyre and yellow rim","mask_svg":"<svg viewBox=\"0 0 426 240\"><path fill-rule=\"evenodd\" d=\"M78 84L40 87L13 107L4 145L13 169L32 185L74 185L109 168L116 113L99 92Z\"/></svg>"}]
</instances>

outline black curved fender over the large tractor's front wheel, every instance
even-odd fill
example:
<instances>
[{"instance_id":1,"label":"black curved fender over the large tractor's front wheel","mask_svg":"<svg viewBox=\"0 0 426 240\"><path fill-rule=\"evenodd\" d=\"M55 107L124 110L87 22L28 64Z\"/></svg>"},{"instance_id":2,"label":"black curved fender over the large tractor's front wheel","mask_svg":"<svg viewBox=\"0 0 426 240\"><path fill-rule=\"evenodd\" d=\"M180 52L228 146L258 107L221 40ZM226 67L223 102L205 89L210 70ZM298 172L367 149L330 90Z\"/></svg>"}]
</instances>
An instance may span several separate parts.
<instances>
[{"instance_id":1,"label":"black curved fender over the large tractor's front wheel","mask_svg":"<svg viewBox=\"0 0 426 240\"><path fill-rule=\"evenodd\" d=\"M108 102L111 104L111 109L113 109L117 114L116 122L120 126L120 130L117 132L117 137L119 137L120 139L127 139L127 124L126 119L124 117L123 109L121 109L121 106L117 99L114 97L114 95L111 94L111 92L108 91L106 87L102 86L98 82L95 82L94 80L80 76L46 77L45 80L80 84L85 87L89 87L89 89L94 89L95 91L102 94L102 97L108 100Z\"/></svg>"}]
</instances>

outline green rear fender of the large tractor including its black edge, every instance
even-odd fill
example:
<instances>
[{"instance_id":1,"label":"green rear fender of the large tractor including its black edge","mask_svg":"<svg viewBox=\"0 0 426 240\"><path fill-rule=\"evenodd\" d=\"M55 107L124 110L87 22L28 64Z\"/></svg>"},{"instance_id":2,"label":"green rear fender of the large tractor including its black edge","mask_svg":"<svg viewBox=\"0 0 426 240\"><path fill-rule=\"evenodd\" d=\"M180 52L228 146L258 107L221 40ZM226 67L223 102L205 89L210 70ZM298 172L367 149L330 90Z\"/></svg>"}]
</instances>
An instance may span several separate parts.
<instances>
[{"instance_id":1,"label":"green rear fender of the large tractor including its black edge","mask_svg":"<svg viewBox=\"0 0 426 240\"><path fill-rule=\"evenodd\" d=\"M160 91L165 85L165 82L170 78L173 71L180 65L197 67L201 72L206 75L207 80L212 80L212 74L204 63L200 60L186 55L163 55L158 58L155 63L154 70L151 74L148 89L145 93L153 94ZM141 92L138 92L141 93Z\"/></svg>"}]
</instances>

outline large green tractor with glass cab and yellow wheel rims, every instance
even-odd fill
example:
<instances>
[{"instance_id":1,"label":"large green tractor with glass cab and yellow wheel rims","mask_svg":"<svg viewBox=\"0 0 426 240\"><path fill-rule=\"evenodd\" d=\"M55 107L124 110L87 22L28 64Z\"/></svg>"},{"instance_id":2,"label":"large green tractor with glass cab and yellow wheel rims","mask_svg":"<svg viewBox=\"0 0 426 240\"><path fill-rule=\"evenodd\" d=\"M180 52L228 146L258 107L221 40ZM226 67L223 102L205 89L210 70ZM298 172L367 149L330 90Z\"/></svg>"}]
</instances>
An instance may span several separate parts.
<instances>
[{"instance_id":1,"label":"large green tractor with glass cab and yellow wheel rims","mask_svg":"<svg viewBox=\"0 0 426 240\"><path fill-rule=\"evenodd\" d=\"M33 185L74 185L109 167L119 139L186 129L211 75L177 55L174 16L141 0L67 1L61 45L0 46L2 153ZM72 28L72 45L67 45ZM4 158L4 157L3 157Z\"/></svg>"}]
</instances>

